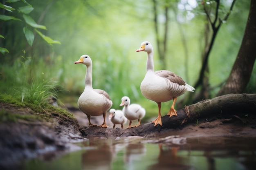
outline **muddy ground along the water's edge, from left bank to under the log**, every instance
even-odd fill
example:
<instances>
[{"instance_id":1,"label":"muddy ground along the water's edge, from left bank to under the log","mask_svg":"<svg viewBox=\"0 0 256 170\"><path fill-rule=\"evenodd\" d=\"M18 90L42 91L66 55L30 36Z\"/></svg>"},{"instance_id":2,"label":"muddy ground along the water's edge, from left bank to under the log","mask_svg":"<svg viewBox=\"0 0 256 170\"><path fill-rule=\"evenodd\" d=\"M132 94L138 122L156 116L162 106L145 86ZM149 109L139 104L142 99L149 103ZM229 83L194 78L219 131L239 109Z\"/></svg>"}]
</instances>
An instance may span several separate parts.
<instances>
[{"instance_id":1,"label":"muddy ground along the water's edge, from left bank to under the log","mask_svg":"<svg viewBox=\"0 0 256 170\"><path fill-rule=\"evenodd\" d=\"M18 108L11 104L0 104L0 108L11 113L30 114L26 108ZM139 135L143 137L167 137L180 135L181 137L256 137L256 118L252 115L225 115L225 117L203 117L197 121L189 122L183 126L173 129L155 127L154 132L137 132L139 127L132 129L121 129L106 117L109 128L88 127L88 119L78 108L68 106L68 111L76 119L65 119L56 114L51 121L25 121L18 120L16 123L0 123L0 169L18 169L22 159L46 155L55 155L76 150L74 142L88 140L86 137L99 136L130 136ZM54 114L53 114L54 115ZM92 117L92 124L100 125L103 117ZM137 124L134 121L132 125ZM128 122L124 127L128 126ZM150 122L143 126L152 126Z\"/></svg>"}]
</instances>

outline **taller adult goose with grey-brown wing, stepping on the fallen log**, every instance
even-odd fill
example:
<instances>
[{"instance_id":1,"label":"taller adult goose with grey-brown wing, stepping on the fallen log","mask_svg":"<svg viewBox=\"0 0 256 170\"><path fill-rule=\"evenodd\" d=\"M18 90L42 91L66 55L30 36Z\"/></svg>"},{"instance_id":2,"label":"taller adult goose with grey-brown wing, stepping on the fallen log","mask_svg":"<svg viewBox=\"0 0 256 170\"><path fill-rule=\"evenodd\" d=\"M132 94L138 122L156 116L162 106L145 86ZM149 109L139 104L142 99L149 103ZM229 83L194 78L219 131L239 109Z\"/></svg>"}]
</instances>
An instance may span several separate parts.
<instances>
[{"instance_id":1,"label":"taller adult goose with grey-brown wing, stepping on the fallen log","mask_svg":"<svg viewBox=\"0 0 256 170\"><path fill-rule=\"evenodd\" d=\"M161 102L167 102L173 99L173 104L167 115L170 115L170 117L177 116L176 110L174 109L177 97L186 91L193 92L195 88L186 84L181 77L175 75L171 71L161 70L154 72L153 47L150 42L142 42L140 48L137 49L136 52L139 51L148 53L147 73L141 82L140 90L144 97L157 103L158 116L152 123L155 123L155 126L157 124L162 126Z\"/></svg>"}]
</instances>

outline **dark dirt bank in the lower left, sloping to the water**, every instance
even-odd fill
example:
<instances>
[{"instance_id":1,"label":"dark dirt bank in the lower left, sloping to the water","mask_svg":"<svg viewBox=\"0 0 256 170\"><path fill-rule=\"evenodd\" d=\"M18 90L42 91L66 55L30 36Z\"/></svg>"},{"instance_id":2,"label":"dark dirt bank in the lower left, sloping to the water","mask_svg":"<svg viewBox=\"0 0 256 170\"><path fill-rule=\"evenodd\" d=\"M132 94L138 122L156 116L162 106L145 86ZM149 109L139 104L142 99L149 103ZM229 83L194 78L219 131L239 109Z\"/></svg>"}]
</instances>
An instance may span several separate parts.
<instances>
[{"instance_id":1,"label":"dark dirt bank in the lower left, sloping to the water","mask_svg":"<svg viewBox=\"0 0 256 170\"><path fill-rule=\"evenodd\" d=\"M22 160L46 154L59 155L75 149L72 142L85 138L76 119L51 112L49 121L43 119L17 119L9 121L11 114L32 115L31 109L0 103L0 169L19 169ZM36 114L36 113L35 113ZM33 114L34 115L34 114Z\"/></svg>"}]
</instances>

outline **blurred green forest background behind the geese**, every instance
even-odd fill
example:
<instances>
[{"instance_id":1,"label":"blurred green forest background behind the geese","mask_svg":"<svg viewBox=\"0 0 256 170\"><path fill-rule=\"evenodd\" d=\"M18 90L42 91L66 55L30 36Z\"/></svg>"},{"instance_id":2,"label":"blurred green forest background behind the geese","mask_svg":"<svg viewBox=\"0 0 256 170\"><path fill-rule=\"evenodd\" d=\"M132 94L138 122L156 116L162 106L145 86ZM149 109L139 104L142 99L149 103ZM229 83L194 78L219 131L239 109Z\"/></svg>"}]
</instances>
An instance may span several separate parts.
<instances>
[{"instance_id":1,"label":"blurred green forest background behind the geese","mask_svg":"<svg viewBox=\"0 0 256 170\"><path fill-rule=\"evenodd\" d=\"M178 110L216 97L225 84L243 40L249 7L249 0L4 0L0 92L22 101L43 94L41 99L32 97L34 103L51 94L64 104L77 106L86 67L74 62L88 54L93 87L110 95L112 108L121 109L121 97L128 96L150 118L156 115L157 105L140 93L146 53L135 52L141 42L149 41L155 71L173 71L196 88L178 98ZM211 21L215 18L219 27L214 35ZM203 79L198 81L209 47ZM254 67L244 92L256 93L255 84ZM171 102L162 104L163 113Z\"/></svg>"}]
</instances>

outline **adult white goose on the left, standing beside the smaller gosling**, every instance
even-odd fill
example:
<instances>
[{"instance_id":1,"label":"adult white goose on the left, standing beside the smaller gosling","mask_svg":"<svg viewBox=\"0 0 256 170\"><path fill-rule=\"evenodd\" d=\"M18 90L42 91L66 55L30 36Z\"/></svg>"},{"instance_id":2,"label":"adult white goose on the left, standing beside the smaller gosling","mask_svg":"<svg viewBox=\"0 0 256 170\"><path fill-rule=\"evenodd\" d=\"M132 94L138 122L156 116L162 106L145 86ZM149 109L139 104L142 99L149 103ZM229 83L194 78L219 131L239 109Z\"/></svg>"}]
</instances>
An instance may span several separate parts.
<instances>
[{"instance_id":1,"label":"adult white goose on the left, standing beside the smaller gosling","mask_svg":"<svg viewBox=\"0 0 256 170\"><path fill-rule=\"evenodd\" d=\"M106 91L92 88L92 60L89 55L82 55L75 64L82 63L86 66L85 89L78 99L79 109L88 117L89 126L97 126L91 124L91 116L103 115L103 124L100 127L107 128L106 112L112 106L112 101Z\"/></svg>"}]
</instances>

